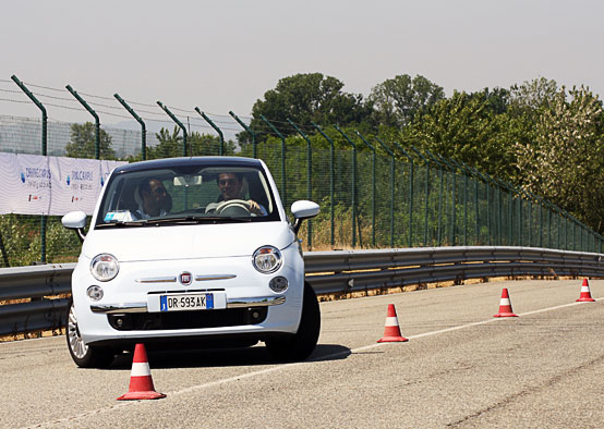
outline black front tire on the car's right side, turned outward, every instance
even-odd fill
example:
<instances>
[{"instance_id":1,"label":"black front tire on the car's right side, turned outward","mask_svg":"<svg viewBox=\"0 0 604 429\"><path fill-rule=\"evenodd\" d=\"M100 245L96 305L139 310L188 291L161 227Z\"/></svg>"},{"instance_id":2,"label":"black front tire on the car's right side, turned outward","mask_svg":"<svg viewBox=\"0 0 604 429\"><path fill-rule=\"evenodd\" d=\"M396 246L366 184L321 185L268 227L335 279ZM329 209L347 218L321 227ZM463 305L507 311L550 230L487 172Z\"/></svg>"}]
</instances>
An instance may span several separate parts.
<instances>
[{"instance_id":1,"label":"black front tire on the car's right side, turned outward","mask_svg":"<svg viewBox=\"0 0 604 429\"><path fill-rule=\"evenodd\" d=\"M304 360L313 353L321 331L321 309L315 291L304 283L302 318L298 332L286 340L268 340L266 348L278 360Z\"/></svg>"}]
</instances>

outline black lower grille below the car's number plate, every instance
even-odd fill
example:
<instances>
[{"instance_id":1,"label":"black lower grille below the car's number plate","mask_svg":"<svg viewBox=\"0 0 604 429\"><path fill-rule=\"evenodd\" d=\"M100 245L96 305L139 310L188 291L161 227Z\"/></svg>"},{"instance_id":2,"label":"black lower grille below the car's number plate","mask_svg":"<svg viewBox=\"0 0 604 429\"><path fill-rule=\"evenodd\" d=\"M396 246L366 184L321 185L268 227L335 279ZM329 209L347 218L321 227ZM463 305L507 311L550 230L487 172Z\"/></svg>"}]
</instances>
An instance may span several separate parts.
<instances>
[{"instance_id":1,"label":"black lower grille below the car's number plate","mask_svg":"<svg viewBox=\"0 0 604 429\"><path fill-rule=\"evenodd\" d=\"M109 324L118 331L153 331L257 324L266 319L266 307L227 308L173 312L130 312L108 315Z\"/></svg>"}]
</instances>

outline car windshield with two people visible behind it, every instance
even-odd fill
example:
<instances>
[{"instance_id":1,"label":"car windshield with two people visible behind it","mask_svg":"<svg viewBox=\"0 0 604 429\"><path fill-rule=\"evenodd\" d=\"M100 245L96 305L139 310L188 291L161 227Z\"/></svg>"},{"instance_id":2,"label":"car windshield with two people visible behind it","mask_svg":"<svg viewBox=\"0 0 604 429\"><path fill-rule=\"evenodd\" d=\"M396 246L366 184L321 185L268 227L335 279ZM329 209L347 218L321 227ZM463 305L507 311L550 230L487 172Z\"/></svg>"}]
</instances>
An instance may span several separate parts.
<instances>
[{"instance_id":1,"label":"car windshield with two people visible behind it","mask_svg":"<svg viewBox=\"0 0 604 429\"><path fill-rule=\"evenodd\" d=\"M97 228L279 220L268 180L253 167L126 171L107 186Z\"/></svg>"}]
</instances>

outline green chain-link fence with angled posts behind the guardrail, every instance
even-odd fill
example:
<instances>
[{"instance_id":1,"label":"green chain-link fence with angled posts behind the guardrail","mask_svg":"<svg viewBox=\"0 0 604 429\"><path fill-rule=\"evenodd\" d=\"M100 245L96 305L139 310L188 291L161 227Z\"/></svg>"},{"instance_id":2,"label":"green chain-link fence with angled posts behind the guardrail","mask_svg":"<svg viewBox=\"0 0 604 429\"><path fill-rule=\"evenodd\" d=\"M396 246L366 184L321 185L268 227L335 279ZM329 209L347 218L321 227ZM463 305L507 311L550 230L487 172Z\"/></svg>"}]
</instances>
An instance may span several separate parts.
<instances>
[{"instance_id":1,"label":"green chain-link fence with angled posts behind the guardrail","mask_svg":"<svg viewBox=\"0 0 604 429\"><path fill-rule=\"evenodd\" d=\"M197 115L181 122L186 124L186 146L180 132L173 132L172 145L160 145L156 133L143 136L141 131L101 126L100 150L90 143L77 157L252 157L252 144L232 143L234 132L244 130L225 118L214 117L214 126L230 133L222 145L207 135L216 128ZM47 155L67 156L75 131L85 132L88 125L48 121ZM255 136L255 150L269 167L286 208L307 198L322 208L300 231L306 250L452 245L602 250L603 237L566 211L438 154L352 130L306 126L292 134L288 124L271 125L287 127L285 151L283 140L268 127ZM40 120L0 117L0 151L39 155L41 127ZM75 261L78 253L77 237L58 217L0 216L0 267Z\"/></svg>"}]
</instances>

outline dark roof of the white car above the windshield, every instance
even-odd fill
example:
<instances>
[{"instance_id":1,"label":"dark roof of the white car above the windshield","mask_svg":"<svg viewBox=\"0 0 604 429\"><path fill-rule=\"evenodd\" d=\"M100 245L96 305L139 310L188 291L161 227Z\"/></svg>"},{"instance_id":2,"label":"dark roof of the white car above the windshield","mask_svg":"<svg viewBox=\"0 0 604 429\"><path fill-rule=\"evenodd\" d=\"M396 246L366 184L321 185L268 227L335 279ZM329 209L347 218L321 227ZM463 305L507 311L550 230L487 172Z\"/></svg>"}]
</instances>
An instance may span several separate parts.
<instances>
[{"instance_id":1,"label":"dark roof of the white car above the windshield","mask_svg":"<svg viewBox=\"0 0 604 429\"><path fill-rule=\"evenodd\" d=\"M125 173L132 171L169 169L185 166L226 166L226 167L252 167L261 168L257 159L243 157L186 157L186 158L164 158L150 161L138 161L118 167L113 173Z\"/></svg>"}]
</instances>

